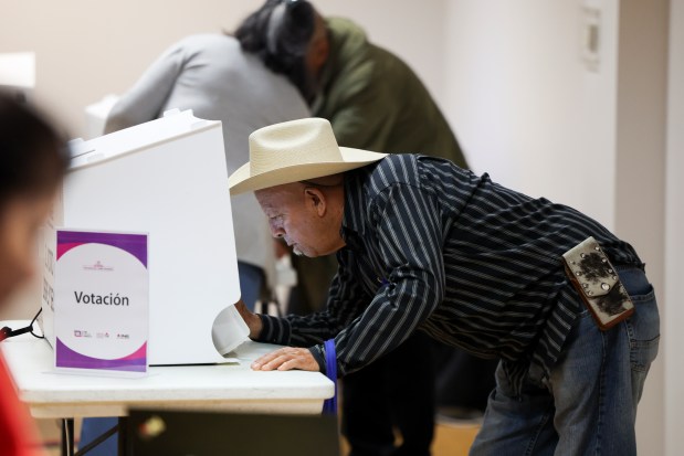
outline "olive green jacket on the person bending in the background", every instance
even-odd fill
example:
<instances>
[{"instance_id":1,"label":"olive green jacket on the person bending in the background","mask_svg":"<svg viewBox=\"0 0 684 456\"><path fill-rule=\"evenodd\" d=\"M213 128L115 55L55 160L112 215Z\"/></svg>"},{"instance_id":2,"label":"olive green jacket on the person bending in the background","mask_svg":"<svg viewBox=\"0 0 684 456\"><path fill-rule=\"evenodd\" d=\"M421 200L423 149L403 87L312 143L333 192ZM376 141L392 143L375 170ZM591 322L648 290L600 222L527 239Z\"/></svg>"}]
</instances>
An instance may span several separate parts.
<instances>
[{"instance_id":1,"label":"olive green jacket on the person bending in the background","mask_svg":"<svg viewBox=\"0 0 684 456\"><path fill-rule=\"evenodd\" d=\"M467 167L440 108L401 59L370 43L348 19L319 21L329 51L317 71L319 89L312 108L315 116L330 120L340 145L391 153L417 151Z\"/></svg>"}]
</instances>

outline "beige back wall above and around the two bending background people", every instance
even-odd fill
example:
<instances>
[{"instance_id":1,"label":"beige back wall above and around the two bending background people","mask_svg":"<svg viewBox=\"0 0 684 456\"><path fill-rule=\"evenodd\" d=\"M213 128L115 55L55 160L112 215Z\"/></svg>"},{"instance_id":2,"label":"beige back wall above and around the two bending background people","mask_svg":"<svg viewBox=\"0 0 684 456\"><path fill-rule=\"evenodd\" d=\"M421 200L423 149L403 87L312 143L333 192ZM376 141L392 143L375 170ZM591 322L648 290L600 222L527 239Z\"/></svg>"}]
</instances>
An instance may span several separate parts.
<instances>
[{"instance_id":1,"label":"beige back wall above and around the two bending background people","mask_svg":"<svg viewBox=\"0 0 684 456\"><path fill-rule=\"evenodd\" d=\"M0 52L36 52L35 98L59 113L73 136L82 136L86 105L126 91L175 41L192 33L234 30L261 4L261 0L0 0ZM409 61L433 93L443 91L444 0L316 4L324 14L357 20L373 40Z\"/></svg>"}]
</instances>

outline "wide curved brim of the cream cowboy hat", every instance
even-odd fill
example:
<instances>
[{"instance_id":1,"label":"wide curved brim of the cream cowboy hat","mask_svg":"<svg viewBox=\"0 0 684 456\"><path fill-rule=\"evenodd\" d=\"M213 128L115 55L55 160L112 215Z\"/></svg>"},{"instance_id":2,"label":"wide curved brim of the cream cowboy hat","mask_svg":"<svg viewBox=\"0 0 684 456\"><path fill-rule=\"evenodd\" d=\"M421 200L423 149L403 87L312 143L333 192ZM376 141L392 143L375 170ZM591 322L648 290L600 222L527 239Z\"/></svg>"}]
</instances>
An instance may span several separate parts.
<instances>
[{"instance_id":1,"label":"wide curved brim of the cream cowboy hat","mask_svg":"<svg viewBox=\"0 0 684 456\"><path fill-rule=\"evenodd\" d=\"M302 180L323 178L365 167L387 157L387 153L340 147L343 161L301 163L250 176L250 163L241 166L228 178L231 195L263 190Z\"/></svg>"}]
</instances>

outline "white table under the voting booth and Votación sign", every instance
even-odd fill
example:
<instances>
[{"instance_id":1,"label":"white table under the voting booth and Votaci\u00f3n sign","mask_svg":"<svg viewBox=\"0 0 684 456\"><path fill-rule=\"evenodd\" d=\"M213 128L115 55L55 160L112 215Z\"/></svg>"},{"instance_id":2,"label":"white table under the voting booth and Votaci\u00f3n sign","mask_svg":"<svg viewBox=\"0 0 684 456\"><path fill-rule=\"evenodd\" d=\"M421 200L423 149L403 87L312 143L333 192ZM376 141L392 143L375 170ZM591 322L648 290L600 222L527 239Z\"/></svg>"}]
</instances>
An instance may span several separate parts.
<instances>
[{"instance_id":1,"label":"white table under the voting booth and Votaci\u00f3n sign","mask_svg":"<svg viewBox=\"0 0 684 456\"><path fill-rule=\"evenodd\" d=\"M1 321L0 327L28 324ZM0 348L20 399L39 418L125 416L129 407L316 414L335 393L318 372L252 371L254 359L277 348L252 341L238 348L239 364L151 367L140 379L55 373L52 348L31 335Z\"/></svg>"}]
</instances>

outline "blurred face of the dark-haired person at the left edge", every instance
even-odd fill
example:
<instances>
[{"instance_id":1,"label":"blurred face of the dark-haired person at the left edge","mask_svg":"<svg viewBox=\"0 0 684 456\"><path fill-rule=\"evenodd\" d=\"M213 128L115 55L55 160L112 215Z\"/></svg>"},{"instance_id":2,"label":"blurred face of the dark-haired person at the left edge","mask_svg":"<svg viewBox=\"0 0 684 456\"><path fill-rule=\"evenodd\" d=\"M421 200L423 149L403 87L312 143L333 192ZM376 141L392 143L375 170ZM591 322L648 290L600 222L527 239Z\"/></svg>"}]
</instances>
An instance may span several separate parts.
<instances>
[{"instance_id":1,"label":"blurred face of the dark-haired person at the left edge","mask_svg":"<svg viewBox=\"0 0 684 456\"><path fill-rule=\"evenodd\" d=\"M35 273L35 240L52 198L15 198L0 209L0 304Z\"/></svg>"}]
</instances>

